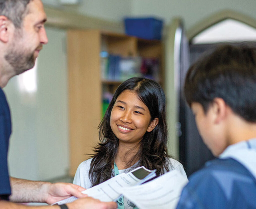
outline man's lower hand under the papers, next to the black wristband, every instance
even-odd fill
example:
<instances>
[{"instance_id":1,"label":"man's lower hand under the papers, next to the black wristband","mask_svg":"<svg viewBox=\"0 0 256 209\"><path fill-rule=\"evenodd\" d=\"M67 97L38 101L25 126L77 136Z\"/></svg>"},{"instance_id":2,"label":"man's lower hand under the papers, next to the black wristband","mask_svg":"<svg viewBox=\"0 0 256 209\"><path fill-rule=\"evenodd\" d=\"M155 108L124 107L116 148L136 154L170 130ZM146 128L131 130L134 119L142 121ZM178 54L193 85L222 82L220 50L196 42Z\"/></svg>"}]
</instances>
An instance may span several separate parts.
<instances>
[{"instance_id":1,"label":"man's lower hand under the papers, next to the black wristband","mask_svg":"<svg viewBox=\"0 0 256 209\"><path fill-rule=\"evenodd\" d=\"M100 200L91 197L81 198L72 203L67 203L69 209L116 209L115 202L101 202Z\"/></svg>"}]
</instances>

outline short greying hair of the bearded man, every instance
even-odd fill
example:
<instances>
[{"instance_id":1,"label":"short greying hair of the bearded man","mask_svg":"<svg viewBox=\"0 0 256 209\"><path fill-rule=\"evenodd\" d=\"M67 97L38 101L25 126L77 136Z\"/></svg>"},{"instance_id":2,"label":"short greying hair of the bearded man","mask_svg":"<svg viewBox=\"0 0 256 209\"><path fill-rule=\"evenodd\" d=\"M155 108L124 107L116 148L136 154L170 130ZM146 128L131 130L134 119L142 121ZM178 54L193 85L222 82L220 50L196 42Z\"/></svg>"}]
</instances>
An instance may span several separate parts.
<instances>
[{"instance_id":1,"label":"short greying hair of the bearded man","mask_svg":"<svg viewBox=\"0 0 256 209\"><path fill-rule=\"evenodd\" d=\"M15 28L21 28L30 1L33 0L0 0L0 15L12 21Z\"/></svg>"}]
</instances>

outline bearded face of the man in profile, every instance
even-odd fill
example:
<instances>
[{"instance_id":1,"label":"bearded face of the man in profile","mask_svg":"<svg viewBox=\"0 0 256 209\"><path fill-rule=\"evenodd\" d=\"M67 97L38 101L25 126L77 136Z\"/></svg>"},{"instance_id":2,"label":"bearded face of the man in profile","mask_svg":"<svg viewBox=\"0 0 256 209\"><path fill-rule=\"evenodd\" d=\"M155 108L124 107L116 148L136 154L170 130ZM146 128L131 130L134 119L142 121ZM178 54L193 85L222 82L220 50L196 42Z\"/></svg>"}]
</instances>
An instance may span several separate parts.
<instances>
[{"instance_id":1,"label":"bearded face of the man in profile","mask_svg":"<svg viewBox=\"0 0 256 209\"><path fill-rule=\"evenodd\" d=\"M16 75L31 69L42 45L48 42L44 22L46 14L40 0L27 5L27 14L21 28L16 28L5 59L14 68Z\"/></svg>"}]
</instances>

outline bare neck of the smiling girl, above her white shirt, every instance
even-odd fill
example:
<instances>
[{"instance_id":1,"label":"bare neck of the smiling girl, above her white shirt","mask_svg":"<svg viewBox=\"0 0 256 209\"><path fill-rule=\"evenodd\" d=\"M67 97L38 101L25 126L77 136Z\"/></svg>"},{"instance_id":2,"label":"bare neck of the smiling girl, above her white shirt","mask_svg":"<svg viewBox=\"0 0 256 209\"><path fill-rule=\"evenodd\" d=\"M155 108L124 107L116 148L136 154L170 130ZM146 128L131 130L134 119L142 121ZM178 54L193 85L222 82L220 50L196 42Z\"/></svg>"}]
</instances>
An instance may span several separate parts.
<instances>
[{"instance_id":1,"label":"bare neck of the smiling girl, above her white shirt","mask_svg":"<svg viewBox=\"0 0 256 209\"><path fill-rule=\"evenodd\" d=\"M119 141L115 163L118 169L126 169L134 165L139 159L134 158L138 153L140 144L126 144Z\"/></svg>"}]
</instances>

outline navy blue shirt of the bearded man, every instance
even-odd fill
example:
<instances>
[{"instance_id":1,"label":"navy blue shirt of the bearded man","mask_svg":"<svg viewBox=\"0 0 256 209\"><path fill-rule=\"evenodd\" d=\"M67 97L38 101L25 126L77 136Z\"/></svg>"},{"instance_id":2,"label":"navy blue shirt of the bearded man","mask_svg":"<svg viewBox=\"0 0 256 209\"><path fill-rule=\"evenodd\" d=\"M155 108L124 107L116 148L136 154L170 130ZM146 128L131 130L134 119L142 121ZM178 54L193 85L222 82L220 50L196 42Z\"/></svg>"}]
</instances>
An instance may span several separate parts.
<instances>
[{"instance_id":1,"label":"navy blue shirt of the bearded man","mask_svg":"<svg viewBox=\"0 0 256 209\"><path fill-rule=\"evenodd\" d=\"M0 88L0 196L11 194L7 166L7 153L11 132L10 109L5 94Z\"/></svg>"}]
</instances>

